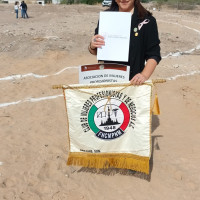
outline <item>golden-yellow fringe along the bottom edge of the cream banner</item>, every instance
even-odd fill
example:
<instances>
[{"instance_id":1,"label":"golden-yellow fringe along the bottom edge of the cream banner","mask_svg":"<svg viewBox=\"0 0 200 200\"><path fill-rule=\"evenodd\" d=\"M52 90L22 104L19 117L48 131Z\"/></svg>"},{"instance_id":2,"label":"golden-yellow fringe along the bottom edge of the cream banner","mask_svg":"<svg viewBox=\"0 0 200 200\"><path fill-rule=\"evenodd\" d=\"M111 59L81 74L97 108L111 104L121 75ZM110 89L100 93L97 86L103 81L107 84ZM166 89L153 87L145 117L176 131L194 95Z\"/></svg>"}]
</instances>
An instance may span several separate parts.
<instances>
[{"instance_id":1,"label":"golden-yellow fringe along the bottom edge of the cream banner","mask_svg":"<svg viewBox=\"0 0 200 200\"><path fill-rule=\"evenodd\" d=\"M128 153L69 153L67 165L78 165L98 169L131 169L149 174L149 157Z\"/></svg>"}]
</instances>

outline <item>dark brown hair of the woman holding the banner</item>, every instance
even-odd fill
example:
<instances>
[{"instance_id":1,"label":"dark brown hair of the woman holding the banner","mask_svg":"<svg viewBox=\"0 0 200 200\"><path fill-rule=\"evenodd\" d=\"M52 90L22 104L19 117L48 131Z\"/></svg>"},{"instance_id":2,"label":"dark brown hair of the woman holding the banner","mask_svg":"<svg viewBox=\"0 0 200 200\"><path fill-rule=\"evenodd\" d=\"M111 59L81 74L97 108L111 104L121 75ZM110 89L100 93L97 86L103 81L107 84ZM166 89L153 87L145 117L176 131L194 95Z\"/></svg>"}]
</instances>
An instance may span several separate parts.
<instances>
[{"instance_id":1,"label":"dark brown hair of the woman holding the banner","mask_svg":"<svg viewBox=\"0 0 200 200\"><path fill-rule=\"evenodd\" d=\"M140 0L134 0L134 6L138 10L138 17L139 17L139 19L144 19L145 16L152 15L148 10L146 10L142 6L142 4L140 3ZM111 4L109 10L111 10L111 11L117 11L117 10L119 10L119 6L118 6L118 4L116 3L115 0L112 0L112 4Z\"/></svg>"}]
</instances>

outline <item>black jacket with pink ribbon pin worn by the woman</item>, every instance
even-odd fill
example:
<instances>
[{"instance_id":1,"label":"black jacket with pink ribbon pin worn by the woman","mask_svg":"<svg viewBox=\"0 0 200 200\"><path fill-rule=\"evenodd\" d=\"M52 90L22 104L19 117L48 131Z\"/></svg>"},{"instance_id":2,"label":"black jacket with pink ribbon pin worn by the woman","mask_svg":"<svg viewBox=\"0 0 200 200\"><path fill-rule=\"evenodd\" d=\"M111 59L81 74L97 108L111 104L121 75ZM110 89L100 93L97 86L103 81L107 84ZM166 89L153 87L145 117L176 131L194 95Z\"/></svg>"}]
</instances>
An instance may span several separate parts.
<instances>
[{"instance_id":1,"label":"black jacket with pink ribbon pin worn by the woman","mask_svg":"<svg viewBox=\"0 0 200 200\"><path fill-rule=\"evenodd\" d=\"M108 10L109 11L109 10ZM137 30L136 36L134 28L138 29L138 25L144 21L144 19L138 18L137 9L134 9L134 14L131 19L131 31L130 31L130 45L129 45L129 60L128 62L118 61L105 61L112 63L125 64L130 66L130 78L133 78L137 73L142 72L145 66L145 61L150 58L160 62L160 40L158 37L158 28L156 19L148 15L145 19L149 19L149 23L142 26L140 30ZM98 25L95 29L95 35L98 34Z\"/></svg>"}]
</instances>

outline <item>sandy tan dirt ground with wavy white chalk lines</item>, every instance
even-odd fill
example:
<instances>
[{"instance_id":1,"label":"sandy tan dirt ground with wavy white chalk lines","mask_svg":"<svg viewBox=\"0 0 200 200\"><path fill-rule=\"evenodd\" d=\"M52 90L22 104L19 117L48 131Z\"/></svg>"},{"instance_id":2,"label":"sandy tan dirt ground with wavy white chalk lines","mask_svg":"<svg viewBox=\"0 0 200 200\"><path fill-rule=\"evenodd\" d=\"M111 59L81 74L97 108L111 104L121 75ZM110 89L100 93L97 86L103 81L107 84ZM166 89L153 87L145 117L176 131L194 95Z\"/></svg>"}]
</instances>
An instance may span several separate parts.
<instances>
[{"instance_id":1,"label":"sandy tan dirt ground with wavy white chalk lines","mask_svg":"<svg viewBox=\"0 0 200 200\"><path fill-rule=\"evenodd\" d=\"M152 120L150 175L67 166L64 98L97 63L87 46L101 5L31 5L16 19L0 4L0 199L197 200L200 196L200 9L152 10L162 61L152 79L161 115Z\"/></svg>"}]
</instances>

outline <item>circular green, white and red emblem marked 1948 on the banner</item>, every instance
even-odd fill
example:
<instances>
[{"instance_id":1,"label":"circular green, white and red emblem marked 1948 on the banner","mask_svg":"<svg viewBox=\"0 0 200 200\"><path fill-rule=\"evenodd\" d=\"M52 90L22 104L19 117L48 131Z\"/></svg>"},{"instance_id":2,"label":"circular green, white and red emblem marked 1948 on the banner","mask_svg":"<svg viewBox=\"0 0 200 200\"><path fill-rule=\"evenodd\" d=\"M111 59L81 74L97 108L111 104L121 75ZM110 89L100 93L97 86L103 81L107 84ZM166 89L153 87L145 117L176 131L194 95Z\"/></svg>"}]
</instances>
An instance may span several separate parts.
<instances>
[{"instance_id":1,"label":"circular green, white and red emblem marked 1948 on the banner","mask_svg":"<svg viewBox=\"0 0 200 200\"><path fill-rule=\"evenodd\" d=\"M120 100L102 99L90 108L88 124L95 135L101 139L111 140L124 134L130 121L127 106Z\"/></svg>"}]
</instances>

